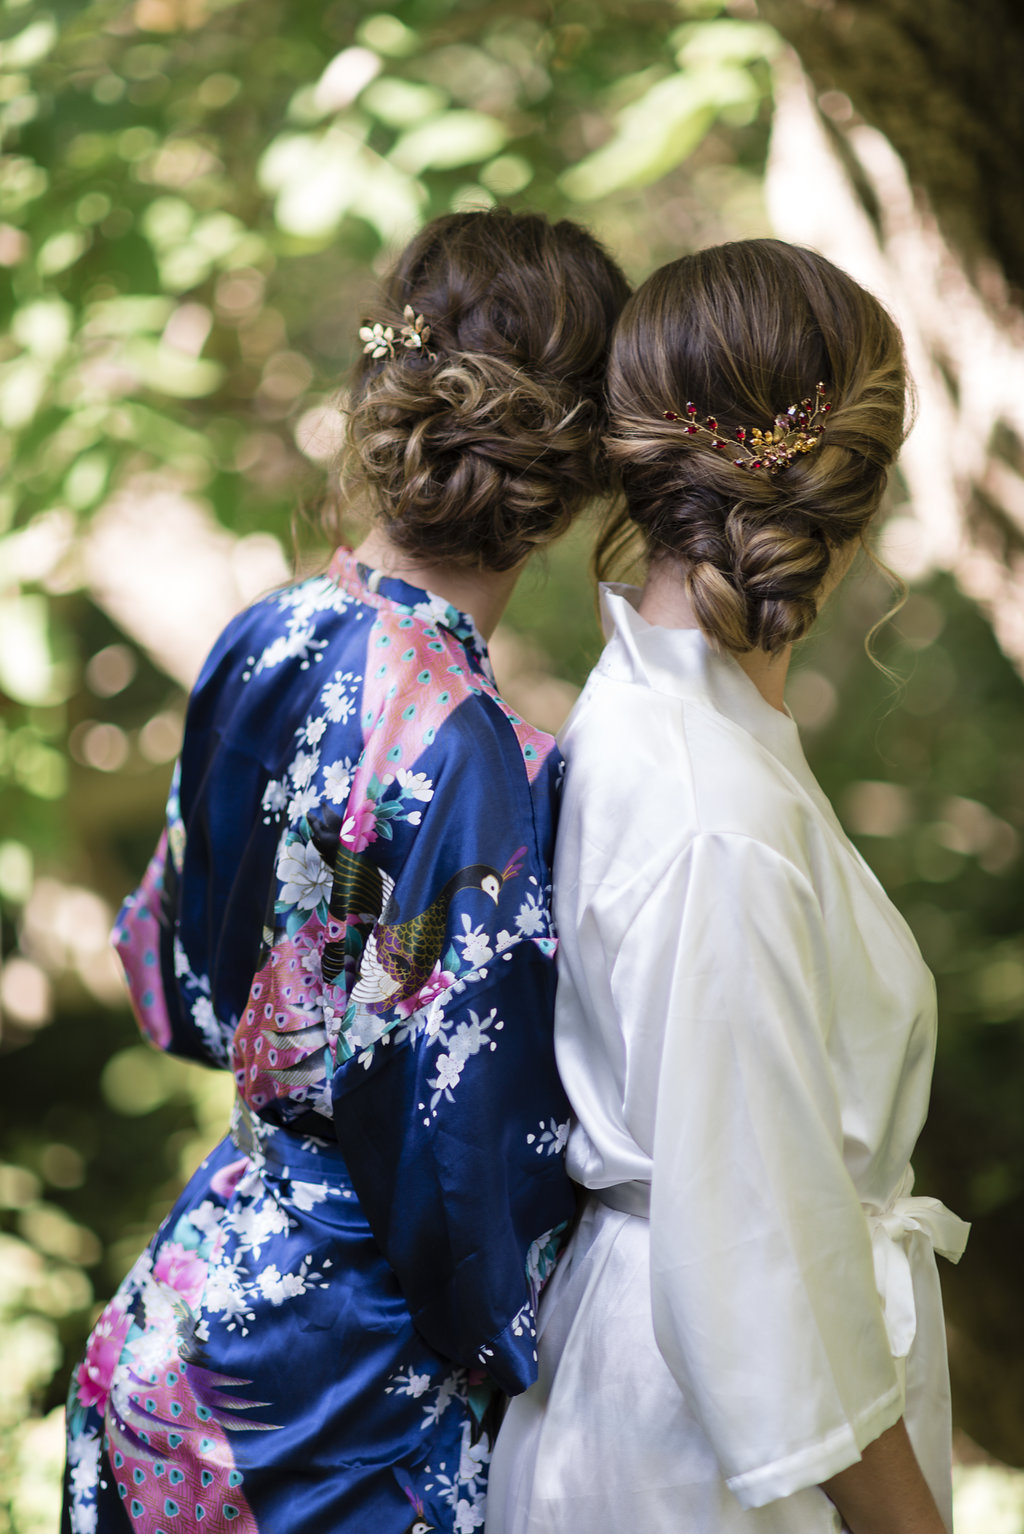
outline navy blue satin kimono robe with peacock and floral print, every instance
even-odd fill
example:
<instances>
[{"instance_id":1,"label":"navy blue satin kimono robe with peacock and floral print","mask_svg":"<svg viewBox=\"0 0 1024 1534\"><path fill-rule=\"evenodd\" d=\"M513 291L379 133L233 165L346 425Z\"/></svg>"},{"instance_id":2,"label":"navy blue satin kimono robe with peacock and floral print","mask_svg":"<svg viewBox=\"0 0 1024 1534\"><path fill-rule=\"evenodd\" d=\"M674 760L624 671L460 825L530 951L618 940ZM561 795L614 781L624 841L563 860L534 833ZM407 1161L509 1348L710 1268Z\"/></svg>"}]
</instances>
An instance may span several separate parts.
<instances>
[{"instance_id":1,"label":"navy blue satin kimono robe with peacock and floral print","mask_svg":"<svg viewBox=\"0 0 1024 1534\"><path fill-rule=\"evenodd\" d=\"M573 1207L560 773L472 621L345 549L215 646L115 942L236 1106L75 1370L66 1531L483 1525Z\"/></svg>"}]
</instances>

